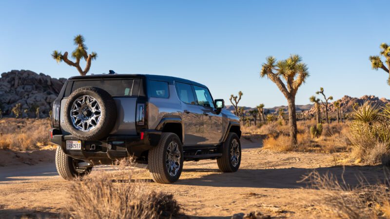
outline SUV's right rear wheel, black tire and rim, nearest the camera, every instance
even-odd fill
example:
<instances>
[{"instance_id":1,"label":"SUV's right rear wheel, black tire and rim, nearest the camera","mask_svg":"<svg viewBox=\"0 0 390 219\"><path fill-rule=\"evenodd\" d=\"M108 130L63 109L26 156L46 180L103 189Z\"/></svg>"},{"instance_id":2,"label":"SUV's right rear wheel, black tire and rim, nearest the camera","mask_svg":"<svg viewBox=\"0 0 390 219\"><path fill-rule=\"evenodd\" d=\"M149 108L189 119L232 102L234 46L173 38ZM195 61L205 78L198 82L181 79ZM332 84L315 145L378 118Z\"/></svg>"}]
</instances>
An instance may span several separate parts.
<instances>
[{"instance_id":1,"label":"SUV's right rear wheel, black tire and rim, nearest the camera","mask_svg":"<svg viewBox=\"0 0 390 219\"><path fill-rule=\"evenodd\" d=\"M156 183L176 182L183 169L183 146L179 137L170 132L162 133L157 146L149 150L148 167Z\"/></svg>"}]
</instances>

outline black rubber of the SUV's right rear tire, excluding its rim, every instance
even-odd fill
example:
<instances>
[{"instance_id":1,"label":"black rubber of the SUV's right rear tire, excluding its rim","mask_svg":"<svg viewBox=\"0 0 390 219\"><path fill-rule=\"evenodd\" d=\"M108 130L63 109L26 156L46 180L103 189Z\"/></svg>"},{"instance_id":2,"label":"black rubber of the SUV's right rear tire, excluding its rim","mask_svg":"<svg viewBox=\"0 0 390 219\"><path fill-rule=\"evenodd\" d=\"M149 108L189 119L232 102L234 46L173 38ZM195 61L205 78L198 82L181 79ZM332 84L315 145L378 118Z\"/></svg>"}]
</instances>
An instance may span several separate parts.
<instances>
[{"instance_id":1,"label":"black rubber of the SUV's right rear tire, excluding its rim","mask_svg":"<svg viewBox=\"0 0 390 219\"><path fill-rule=\"evenodd\" d=\"M179 162L177 162L180 164L180 166L177 169L175 175L171 175L169 173L168 167L166 165L167 148L172 142L177 144L178 150L180 152ZM148 155L148 168L153 181L156 183L176 182L181 175L183 161L183 146L181 145L179 137L176 134L170 132L162 133L158 145L150 149Z\"/></svg>"}]
</instances>

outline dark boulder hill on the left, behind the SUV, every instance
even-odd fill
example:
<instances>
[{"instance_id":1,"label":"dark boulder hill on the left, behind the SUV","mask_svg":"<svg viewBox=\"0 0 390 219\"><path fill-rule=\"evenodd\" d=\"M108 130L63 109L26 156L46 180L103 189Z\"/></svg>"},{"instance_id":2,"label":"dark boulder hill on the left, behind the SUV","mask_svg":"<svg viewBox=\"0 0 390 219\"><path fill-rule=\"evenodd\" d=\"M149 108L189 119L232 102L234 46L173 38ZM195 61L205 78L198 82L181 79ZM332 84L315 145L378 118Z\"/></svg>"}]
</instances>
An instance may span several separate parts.
<instances>
[{"instance_id":1,"label":"dark boulder hill on the left, behind the SUV","mask_svg":"<svg viewBox=\"0 0 390 219\"><path fill-rule=\"evenodd\" d=\"M65 78L52 78L29 70L12 70L0 78L0 109L3 116L13 116L12 108L20 103L23 116L35 117L39 107L40 117L46 117L57 98Z\"/></svg>"}]
</instances>

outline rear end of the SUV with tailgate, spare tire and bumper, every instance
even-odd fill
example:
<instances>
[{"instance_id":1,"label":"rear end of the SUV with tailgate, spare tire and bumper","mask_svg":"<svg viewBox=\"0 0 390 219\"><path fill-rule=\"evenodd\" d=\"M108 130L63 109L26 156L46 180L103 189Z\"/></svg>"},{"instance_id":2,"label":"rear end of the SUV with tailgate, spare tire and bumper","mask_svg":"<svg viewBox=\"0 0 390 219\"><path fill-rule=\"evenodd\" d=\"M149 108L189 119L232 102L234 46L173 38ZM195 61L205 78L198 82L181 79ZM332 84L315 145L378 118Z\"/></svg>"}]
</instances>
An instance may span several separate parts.
<instances>
[{"instance_id":1,"label":"rear end of the SUV with tailgate, spare tire and bumper","mask_svg":"<svg viewBox=\"0 0 390 219\"><path fill-rule=\"evenodd\" d=\"M70 78L53 105L51 141L79 166L112 164L128 156L146 163L147 137L153 133L146 130L145 84L143 75Z\"/></svg>"}]
</instances>

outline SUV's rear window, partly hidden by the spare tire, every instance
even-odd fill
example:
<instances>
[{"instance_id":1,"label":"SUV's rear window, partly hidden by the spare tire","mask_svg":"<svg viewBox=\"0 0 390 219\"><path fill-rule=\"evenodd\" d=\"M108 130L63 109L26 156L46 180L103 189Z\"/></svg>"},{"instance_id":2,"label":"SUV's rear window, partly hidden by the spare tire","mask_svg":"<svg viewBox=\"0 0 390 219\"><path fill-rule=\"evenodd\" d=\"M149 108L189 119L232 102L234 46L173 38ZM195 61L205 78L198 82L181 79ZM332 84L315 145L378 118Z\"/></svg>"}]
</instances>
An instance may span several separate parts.
<instances>
[{"instance_id":1,"label":"SUV's rear window, partly hidden by the spare tire","mask_svg":"<svg viewBox=\"0 0 390 219\"><path fill-rule=\"evenodd\" d=\"M70 93L81 87L95 87L107 91L111 96L135 96L138 95L138 91L133 91L134 81L133 79L74 81Z\"/></svg>"}]
</instances>

